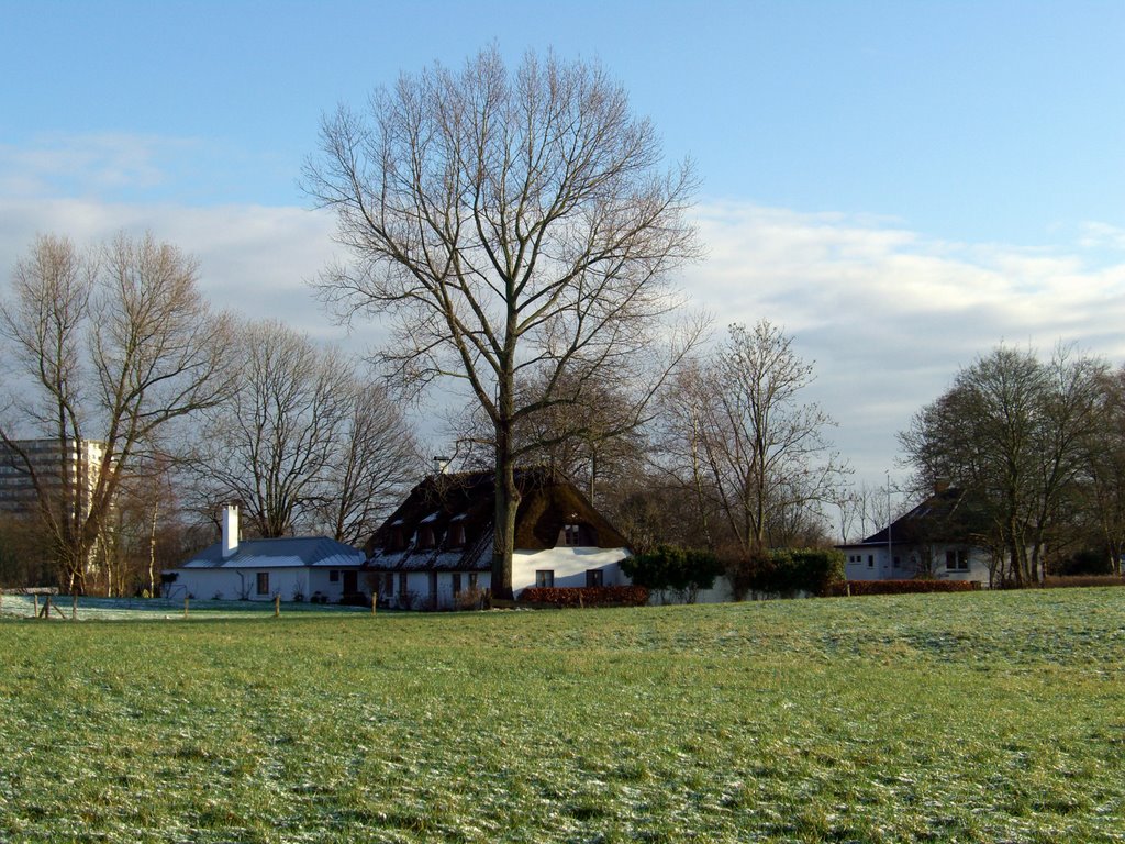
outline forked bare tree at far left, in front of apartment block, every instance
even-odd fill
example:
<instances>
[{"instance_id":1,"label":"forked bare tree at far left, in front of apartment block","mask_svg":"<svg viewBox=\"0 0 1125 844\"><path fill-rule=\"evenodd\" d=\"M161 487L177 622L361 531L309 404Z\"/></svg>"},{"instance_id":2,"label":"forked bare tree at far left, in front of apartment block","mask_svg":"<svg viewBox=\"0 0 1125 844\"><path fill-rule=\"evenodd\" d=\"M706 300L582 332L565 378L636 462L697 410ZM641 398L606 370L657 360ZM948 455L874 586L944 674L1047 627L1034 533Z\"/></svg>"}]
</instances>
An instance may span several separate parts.
<instances>
[{"instance_id":1,"label":"forked bare tree at far left, in front of apartment block","mask_svg":"<svg viewBox=\"0 0 1125 844\"><path fill-rule=\"evenodd\" d=\"M172 420L223 395L228 320L210 311L196 277L194 259L151 235L123 234L89 253L44 236L16 266L0 334L19 376L0 439L35 490L69 589L87 586L123 478ZM28 436L57 443L54 465L30 454ZM101 458L78 466L81 449L69 455L84 440L101 443Z\"/></svg>"}]
</instances>

